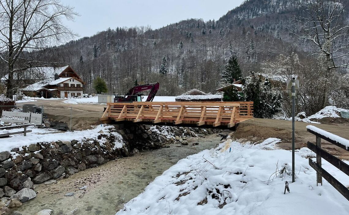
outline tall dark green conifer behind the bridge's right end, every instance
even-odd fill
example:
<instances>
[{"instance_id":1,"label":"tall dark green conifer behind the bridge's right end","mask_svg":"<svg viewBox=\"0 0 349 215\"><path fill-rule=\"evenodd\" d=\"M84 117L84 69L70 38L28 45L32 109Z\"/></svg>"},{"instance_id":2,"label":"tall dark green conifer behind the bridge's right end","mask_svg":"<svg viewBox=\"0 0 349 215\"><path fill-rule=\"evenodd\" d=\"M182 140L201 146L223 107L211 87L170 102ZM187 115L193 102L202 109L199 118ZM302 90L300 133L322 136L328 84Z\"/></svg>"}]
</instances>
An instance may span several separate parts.
<instances>
[{"instance_id":1,"label":"tall dark green conifer behind the bridge's right end","mask_svg":"<svg viewBox=\"0 0 349 215\"><path fill-rule=\"evenodd\" d=\"M230 56L228 63L224 67L225 70L222 73L224 83L231 84L241 79L241 69L236 55Z\"/></svg>"}]
</instances>

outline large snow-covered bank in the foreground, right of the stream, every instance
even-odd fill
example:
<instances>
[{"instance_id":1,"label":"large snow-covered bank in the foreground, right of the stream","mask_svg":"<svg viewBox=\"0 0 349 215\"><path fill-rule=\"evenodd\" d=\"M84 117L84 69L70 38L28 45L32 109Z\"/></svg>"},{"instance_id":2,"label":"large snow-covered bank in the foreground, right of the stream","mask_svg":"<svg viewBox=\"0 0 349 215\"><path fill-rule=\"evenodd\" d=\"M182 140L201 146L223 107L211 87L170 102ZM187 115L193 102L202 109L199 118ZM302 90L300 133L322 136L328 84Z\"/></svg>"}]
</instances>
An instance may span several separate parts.
<instances>
[{"instance_id":1,"label":"large snow-covered bank in the foreground, right of the stream","mask_svg":"<svg viewBox=\"0 0 349 215\"><path fill-rule=\"evenodd\" d=\"M275 149L277 141L269 138L260 144L242 144L227 140L188 156L155 178L117 215L349 214L348 200L326 180L316 186L316 172L304 158L307 150L296 153L296 182L289 184L290 193L283 194L285 181L292 181L292 156L291 151ZM325 160L322 166L349 186L343 172Z\"/></svg>"}]
</instances>

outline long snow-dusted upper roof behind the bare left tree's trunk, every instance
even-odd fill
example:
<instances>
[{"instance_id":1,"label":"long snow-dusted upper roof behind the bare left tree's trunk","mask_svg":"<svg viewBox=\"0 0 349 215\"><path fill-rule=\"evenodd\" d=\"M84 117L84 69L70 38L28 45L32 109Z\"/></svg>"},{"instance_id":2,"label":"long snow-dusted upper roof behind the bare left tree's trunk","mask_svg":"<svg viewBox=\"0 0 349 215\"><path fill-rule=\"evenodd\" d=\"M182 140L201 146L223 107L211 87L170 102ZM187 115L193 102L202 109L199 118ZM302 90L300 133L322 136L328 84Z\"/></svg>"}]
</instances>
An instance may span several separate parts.
<instances>
[{"instance_id":1,"label":"long snow-dusted upper roof behind the bare left tree's trunk","mask_svg":"<svg viewBox=\"0 0 349 215\"><path fill-rule=\"evenodd\" d=\"M29 80L43 80L54 77L54 74L60 74L68 66L63 67L33 67L26 69L24 72L14 72L14 80L29 79ZM2 81L8 79L8 74L1 78Z\"/></svg>"}]
</instances>

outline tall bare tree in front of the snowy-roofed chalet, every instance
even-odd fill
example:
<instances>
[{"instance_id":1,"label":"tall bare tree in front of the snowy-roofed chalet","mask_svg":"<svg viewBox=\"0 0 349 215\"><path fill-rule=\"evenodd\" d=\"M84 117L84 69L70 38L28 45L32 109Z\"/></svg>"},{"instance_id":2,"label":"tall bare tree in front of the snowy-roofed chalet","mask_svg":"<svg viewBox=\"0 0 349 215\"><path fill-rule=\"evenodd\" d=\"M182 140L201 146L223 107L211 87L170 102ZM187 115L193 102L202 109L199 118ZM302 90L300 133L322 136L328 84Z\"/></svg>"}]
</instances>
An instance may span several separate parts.
<instances>
[{"instance_id":1,"label":"tall bare tree in front of the snowy-roofed chalet","mask_svg":"<svg viewBox=\"0 0 349 215\"><path fill-rule=\"evenodd\" d=\"M63 23L74 21L74 8L59 0L0 0L0 58L8 67L7 93L13 96L13 74L31 67L52 66L30 57L30 52L57 49L75 35Z\"/></svg>"}]
</instances>

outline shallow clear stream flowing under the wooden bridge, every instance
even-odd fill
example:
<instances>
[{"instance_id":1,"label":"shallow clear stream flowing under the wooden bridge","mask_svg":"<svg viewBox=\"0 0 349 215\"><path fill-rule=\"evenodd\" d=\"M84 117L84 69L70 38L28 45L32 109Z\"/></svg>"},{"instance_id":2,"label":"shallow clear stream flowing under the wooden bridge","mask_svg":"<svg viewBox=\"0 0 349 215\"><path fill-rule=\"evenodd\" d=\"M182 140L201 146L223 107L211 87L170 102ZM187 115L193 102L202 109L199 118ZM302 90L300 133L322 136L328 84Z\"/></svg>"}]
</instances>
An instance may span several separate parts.
<instances>
[{"instance_id":1,"label":"shallow clear stream flowing under the wooden bridge","mask_svg":"<svg viewBox=\"0 0 349 215\"><path fill-rule=\"evenodd\" d=\"M22 215L33 215L43 209L52 209L53 215L114 215L124 203L142 193L154 178L180 159L213 148L220 139L217 134L191 138L199 145L192 146L192 142L181 147L170 144L169 148L142 151L80 171L66 179L51 181L53 184L34 185L37 197L14 210ZM67 193L74 194L65 196ZM69 213L76 208L78 213Z\"/></svg>"}]
</instances>

